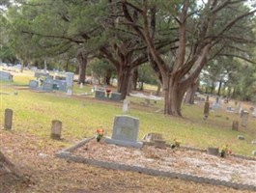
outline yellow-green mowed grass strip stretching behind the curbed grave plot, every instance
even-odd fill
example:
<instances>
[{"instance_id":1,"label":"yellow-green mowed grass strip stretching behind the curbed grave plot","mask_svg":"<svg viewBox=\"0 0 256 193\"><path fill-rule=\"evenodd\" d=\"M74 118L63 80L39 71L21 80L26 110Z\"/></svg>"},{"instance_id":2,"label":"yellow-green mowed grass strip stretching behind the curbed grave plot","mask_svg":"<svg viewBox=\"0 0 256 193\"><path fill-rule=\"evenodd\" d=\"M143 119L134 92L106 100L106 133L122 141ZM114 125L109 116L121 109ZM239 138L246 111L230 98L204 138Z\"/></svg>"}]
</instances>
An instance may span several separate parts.
<instances>
[{"instance_id":1,"label":"yellow-green mowed grass strip stretching behind the curbed grave plot","mask_svg":"<svg viewBox=\"0 0 256 193\"><path fill-rule=\"evenodd\" d=\"M28 132L42 137L45 141L49 138L52 120L63 123L62 141L65 146L74 141L95 135L96 128L104 128L107 135L111 136L113 118L122 114L121 102L106 102L95 99L93 96L66 96L64 93L38 93L30 91L23 85L28 84L30 76L14 76L14 83L1 83L0 95L1 123L4 120L4 110L14 110L14 132ZM15 86L17 85L17 86ZM22 85L22 86L19 86ZM91 87L86 86L76 93L90 92ZM17 92L18 95L14 95ZM225 109L211 112L209 119L203 119L203 103L186 106L183 108L184 118L174 118L161 113L156 113L162 107L162 101L150 107L144 107L143 99L128 97L131 101L130 116L140 121L139 136L149 132L161 133L164 139L171 143L174 139L182 141L182 145L206 149L229 144L235 153L250 155L256 150L251 144L256 140L256 122L249 119L248 126L240 131L231 130L234 120L240 118L237 114L225 112ZM224 108L224 107L223 107ZM238 140L241 134L245 140Z\"/></svg>"}]
</instances>

